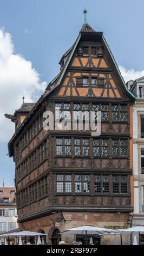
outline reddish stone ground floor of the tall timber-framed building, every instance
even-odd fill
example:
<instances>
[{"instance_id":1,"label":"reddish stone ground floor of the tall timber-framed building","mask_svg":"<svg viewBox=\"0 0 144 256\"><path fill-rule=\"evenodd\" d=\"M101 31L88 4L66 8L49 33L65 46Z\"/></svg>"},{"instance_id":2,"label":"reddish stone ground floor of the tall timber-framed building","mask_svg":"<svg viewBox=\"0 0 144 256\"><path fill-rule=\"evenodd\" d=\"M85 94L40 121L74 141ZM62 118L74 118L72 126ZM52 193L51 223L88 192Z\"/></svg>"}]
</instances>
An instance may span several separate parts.
<instances>
[{"instance_id":1,"label":"reddish stone ground floor of the tall timber-framed building","mask_svg":"<svg viewBox=\"0 0 144 256\"><path fill-rule=\"evenodd\" d=\"M120 229L129 228L131 216L124 213L108 212L61 212L35 220L19 223L22 230L36 231L47 234L45 241L49 245L56 245L60 240L71 244L75 240L85 240L84 235L60 235L66 229L76 228L82 225L93 225L95 227ZM87 239L93 238L97 245L120 245L120 235L97 236L88 235ZM129 236L122 236L122 244L129 245Z\"/></svg>"}]
</instances>

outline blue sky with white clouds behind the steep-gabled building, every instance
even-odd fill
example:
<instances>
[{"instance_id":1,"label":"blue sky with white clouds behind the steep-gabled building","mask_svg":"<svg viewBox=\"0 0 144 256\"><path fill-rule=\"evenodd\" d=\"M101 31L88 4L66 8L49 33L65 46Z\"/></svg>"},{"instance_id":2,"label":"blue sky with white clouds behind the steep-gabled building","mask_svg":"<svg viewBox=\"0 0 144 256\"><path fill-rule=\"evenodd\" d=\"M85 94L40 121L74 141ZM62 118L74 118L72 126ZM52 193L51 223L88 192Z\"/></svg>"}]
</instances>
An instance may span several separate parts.
<instances>
[{"instance_id":1,"label":"blue sky with white clouds behind the steep-gabled building","mask_svg":"<svg viewBox=\"0 0 144 256\"><path fill-rule=\"evenodd\" d=\"M60 70L58 62L87 22L102 31L125 81L144 76L143 0L0 0L0 186L14 186L8 154L14 114L36 101Z\"/></svg>"}]
</instances>

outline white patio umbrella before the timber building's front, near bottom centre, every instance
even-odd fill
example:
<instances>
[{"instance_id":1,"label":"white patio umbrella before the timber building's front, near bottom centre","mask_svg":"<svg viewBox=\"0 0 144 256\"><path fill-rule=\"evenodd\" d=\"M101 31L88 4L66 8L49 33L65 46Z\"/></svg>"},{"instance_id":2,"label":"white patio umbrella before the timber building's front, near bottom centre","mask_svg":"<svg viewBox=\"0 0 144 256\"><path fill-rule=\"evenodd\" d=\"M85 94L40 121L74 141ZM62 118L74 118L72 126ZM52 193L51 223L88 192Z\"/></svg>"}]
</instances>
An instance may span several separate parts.
<instances>
[{"instance_id":1,"label":"white patio umbrella before the timber building's front, near bottom centre","mask_svg":"<svg viewBox=\"0 0 144 256\"><path fill-rule=\"evenodd\" d=\"M106 233L107 234L112 233L114 231L115 231L114 229L99 228L99 227L85 225L82 227L68 229L66 231L61 232L61 234L85 234L86 235L86 244L87 244L87 234L103 235Z\"/></svg>"}]
</instances>

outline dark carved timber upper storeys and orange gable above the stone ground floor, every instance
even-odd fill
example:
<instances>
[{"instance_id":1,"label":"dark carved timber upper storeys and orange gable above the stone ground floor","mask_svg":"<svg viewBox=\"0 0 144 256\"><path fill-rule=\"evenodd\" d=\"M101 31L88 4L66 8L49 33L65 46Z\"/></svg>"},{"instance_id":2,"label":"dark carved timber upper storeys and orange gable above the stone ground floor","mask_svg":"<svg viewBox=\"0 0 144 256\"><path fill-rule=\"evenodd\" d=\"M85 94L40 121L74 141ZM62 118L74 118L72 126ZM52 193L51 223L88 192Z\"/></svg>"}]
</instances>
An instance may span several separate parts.
<instances>
[{"instance_id":1,"label":"dark carved timber upper storeys and orange gable above the stone ground floor","mask_svg":"<svg viewBox=\"0 0 144 256\"><path fill-rule=\"evenodd\" d=\"M85 49L88 53L80 54L78 48L79 50L88 48L88 50ZM90 53L91 48L96 48L95 56ZM54 211L129 213L133 211L130 199L130 175L132 175L130 115L132 115L134 96L128 92L102 32L95 32L88 24L82 26L74 45L63 55L60 64L60 73L49 83L44 94L9 142L9 155L14 157L16 163L18 221L25 222L49 215ZM77 84L77 78L87 78L88 84L86 86ZM92 78L98 81L94 86L91 85ZM100 84L99 78L103 81ZM95 104L108 105L108 120L102 121L102 133L99 137L101 141L108 140L107 156L93 156L93 139L95 138L91 137L91 131L44 131L39 126L38 115L42 116L43 109L55 113L56 103L62 103L62 105L69 103L70 111L73 111L75 104L81 106L88 104L89 109L92 109ZM114 105L119 106L119 109L121 106L126 106L125 120L113 120ZM33 124L36 127L35 133ZM28 131L32 129L31 127L33 130L29 138ZM21 143L23 136L25 136L24 144ZM57 138L71 139L69 156L56 154ZM75 156L74 139L76 138L88 139L88 155ZM119 141L119 148L121 140L127 141L125 156L112 155L112 143L116 139ZM67 185L65 179L68 178L66 175L69 175L70 192L65 190ZM76 175L81 175L79 178L82 186L86 178L83 175L87 175L89 183L86 183L89 191L82 190L77 193ZM94 188L97 186L96 175L101 176L99 193L96 193ZM116 176L119 177L116 178ZM124 193L121 192L121 182L125 178L123 176L126 177L127 183ZM57 181L57 177L61 177L60 182ZM108 179L108 189L103 192L102 186L106 186L104 185L106 179ZM114 185L116 179L118 179L117 185ZM59 191L57 183L58 186L63 187ZM115 192L116 186L119 187L117 192Z\"/></svg>"}]
</instances>

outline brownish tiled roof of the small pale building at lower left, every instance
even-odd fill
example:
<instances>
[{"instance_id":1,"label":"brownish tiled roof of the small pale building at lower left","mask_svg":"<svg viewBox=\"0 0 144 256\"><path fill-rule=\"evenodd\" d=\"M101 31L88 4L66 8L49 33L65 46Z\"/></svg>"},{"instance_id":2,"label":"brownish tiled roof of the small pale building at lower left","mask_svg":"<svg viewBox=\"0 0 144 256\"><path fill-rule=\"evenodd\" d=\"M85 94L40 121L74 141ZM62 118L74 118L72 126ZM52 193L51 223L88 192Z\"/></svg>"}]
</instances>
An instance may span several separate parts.
<instances>
[{"instance_id":1,"label":"brownish tiled roof of the small pale building at lower left","mask_svg":"<svg viewBox=\"0 0 144 256\"><path fill-rule=\"evenodd\" d=\"M15 194L11 194L11 191L16 191L15 187L0 187L0 204L3 203L4 198L9 198L9 203L15 203Z\"/></svg>"}]
</instances>

